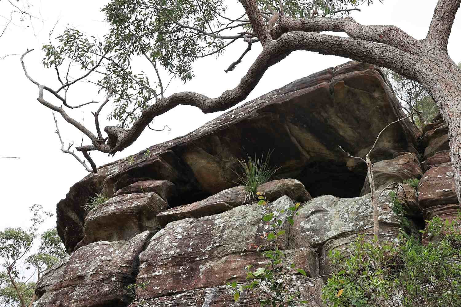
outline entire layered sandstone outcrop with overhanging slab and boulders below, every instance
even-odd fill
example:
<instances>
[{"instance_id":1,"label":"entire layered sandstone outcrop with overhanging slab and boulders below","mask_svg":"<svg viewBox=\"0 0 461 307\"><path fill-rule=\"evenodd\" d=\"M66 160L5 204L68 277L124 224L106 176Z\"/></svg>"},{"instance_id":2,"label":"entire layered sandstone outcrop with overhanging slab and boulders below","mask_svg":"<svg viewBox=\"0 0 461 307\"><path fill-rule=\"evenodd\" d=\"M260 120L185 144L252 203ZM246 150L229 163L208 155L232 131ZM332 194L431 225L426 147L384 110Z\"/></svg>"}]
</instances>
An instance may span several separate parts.
<instances>
[{"instance_id":1,"label":"entire layered sandstone outcrop with overhanging slab and boulders below","mask_svg":"<svg viewBox=\"0 0 461 307\"><path fill-rule=\"evenodd\" d=\"M331 272L328 253L346 255L349 243L373 232L366 166L338 145L365 156L379 131L400 117L380 70L349 62L152 146L134 163L122 159L101 167L58 203L59 235L71 255L44 275L36 306L231 306L225 284L247 282L244 267L267 262L255 249L270 229L262 220L267 212L283 223L278 246L285 261L307 272L304 277L293 269L289 282L301 285L307 301L321 304L320 276ZM459 209L444 129L437 117L418 143L408 120L380 139L372 154L379 189L421 178L418 188L401 184L395 190L401 211L393 208L391 190L379 198L382 239L395 240L401 229L419 236L425 219L450 220ZM258 187L269 201L258 205L235 186L233 170L237 159L272 149L270 163L281 167L280 179ZM109 200L85 213L83 205L100 192ZM287 209L297 202L291 225ZM129 295L132 283L144 286ZM235 306L260 304L244 292Z\"/></svg>"}]
</instances>

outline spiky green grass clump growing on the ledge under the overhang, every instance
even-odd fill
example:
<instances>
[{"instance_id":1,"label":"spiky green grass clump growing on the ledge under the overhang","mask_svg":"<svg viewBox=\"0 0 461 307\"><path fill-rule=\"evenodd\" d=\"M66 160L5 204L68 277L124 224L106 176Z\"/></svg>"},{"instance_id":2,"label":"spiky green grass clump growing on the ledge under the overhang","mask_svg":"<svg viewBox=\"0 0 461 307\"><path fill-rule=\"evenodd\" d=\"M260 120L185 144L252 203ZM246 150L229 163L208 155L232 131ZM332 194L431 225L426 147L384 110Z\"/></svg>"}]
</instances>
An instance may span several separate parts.
<instances>
[{"instance_id":1,"label":"spiky green grass clump growing on the ledge under the overhang","mask_svg":"<svg viewBox=\"0 0 461 307\"><path fill-rule=\"evenodd\" d=\"M272 152L269 152L266 157L264 153L260 158L250 156L245 159L238 160L240 165L241 173L235 172L237 174L237 182L245 186L245 191L248 196L254 195L259 185L266 183L279 167L272 167L269 164L269 159L271 158Z\"/></svg>"}]
</instances>

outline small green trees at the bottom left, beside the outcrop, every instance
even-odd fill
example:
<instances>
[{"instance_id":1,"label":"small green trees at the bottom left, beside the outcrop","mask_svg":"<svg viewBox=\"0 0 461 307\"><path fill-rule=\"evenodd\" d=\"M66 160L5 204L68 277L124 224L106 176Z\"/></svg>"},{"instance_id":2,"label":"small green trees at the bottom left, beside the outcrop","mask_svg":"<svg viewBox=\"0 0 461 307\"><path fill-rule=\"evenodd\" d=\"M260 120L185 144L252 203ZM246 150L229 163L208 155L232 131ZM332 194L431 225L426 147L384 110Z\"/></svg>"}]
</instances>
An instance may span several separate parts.
<instances>
[{"instance_id":1,"label":"small green trees at the bottom left, beside the outcrop","mask_svg":"<svg viewBox=\"0 0 461 307\"><path fill-rule=\"evenodd\" d=\"M29 306L35 290L34 280L40 279L47 268L67 255L55 228L40 235L37 233L44 218L53 214L43 211L41 205L30 207L30 211L32 217L28 229L6 228L0 232L0 257L3 267L0 272L1 306ZM37 240L38 248L32 252ZM29 273L32 279L24 277L24 272L29 270L32 270Z\"/></svg>"}]
</instances>

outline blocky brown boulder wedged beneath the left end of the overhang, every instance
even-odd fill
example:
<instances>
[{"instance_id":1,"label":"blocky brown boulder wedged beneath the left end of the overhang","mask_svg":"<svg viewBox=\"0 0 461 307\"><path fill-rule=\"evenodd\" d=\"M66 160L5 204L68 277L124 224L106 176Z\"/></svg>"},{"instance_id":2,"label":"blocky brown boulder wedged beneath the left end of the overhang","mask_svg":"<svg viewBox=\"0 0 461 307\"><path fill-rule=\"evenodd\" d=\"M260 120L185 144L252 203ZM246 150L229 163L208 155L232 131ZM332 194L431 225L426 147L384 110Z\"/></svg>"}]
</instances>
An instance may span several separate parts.
<instances>
[{"instance_id":1,"label":"blocky brown boulder wedged beneath the left end of the overhang","mask_svg":"<svg viewBox=\"0 0 461 307\"><path fill-rule=\"evenodd\" d=\"M85 217L84 237L77 247L96 241L129 240L146 230L156 232L156 215L167 207L155 193L123 194L92 209Z\"/></svg>"}]
</instances>

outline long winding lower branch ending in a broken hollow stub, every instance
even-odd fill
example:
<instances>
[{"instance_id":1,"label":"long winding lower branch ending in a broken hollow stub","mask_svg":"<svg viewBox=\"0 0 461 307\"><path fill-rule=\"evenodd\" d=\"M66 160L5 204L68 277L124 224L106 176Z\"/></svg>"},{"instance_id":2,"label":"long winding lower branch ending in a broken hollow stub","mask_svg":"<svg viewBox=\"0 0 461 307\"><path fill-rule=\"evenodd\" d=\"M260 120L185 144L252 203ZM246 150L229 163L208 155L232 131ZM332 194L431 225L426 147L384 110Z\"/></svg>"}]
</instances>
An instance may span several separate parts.
<instances>
[{"instance_id":1,"label":"long winding lower branch ending in a broken hollow stub","mask_svg":"<svg viewBox=\"0 0 461 307\"><path fill-rule=\"evenodd\" d=\"M142 115L129 130L113 126L106 127L104 131L109 135L110 153L122 151L133 144L154 117L179 104L195 106L203 113L229 109L247 98L269 67L296 50L337 55L386 66L402 75L412 74L414 72L413 63L416 62L414 56L384 44L311 32L285 33L273 44L263 49L237 87L225 91L218 98L208 98L193 92L175 93L143 110ZM83 146L83 148L84 150L96 149L91 146ZM77 150L83 150L83 148L77 148Z\"/></svg>"}]
</instances>

